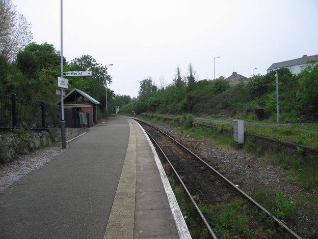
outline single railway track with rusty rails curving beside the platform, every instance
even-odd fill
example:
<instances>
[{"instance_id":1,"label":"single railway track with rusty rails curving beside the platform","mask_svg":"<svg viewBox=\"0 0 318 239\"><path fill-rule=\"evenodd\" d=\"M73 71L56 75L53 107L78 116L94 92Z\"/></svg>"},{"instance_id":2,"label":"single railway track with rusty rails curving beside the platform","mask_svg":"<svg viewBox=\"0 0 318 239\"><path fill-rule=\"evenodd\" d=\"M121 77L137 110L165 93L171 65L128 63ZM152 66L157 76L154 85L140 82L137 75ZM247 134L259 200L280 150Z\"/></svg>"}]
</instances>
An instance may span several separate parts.
<instances>
[{"instance_id":1,"label":"single railway track with rusty rails curving beside the platform","mask_svg":"<svg viewBox=\"0 0 318 239\"><path fill-rule=\"evenodd\" d=\"M151 124L139 119L134 120L138 121L145 129L159 150L159 153L161 153L170 164L173 172L183 185L185 192L194 204L212 238L217 237L213 232L210 222L206 219L206 215L202 213L198 204L226 204L240 197L247 202L247 205L251 210L257 208L262 211L267 218L271 218L277 228L284 229L284 233L286 233L287 236L300 239L300 237L286 224L281 222L268 210L243 192L238 185L232 183L218 172L217 169L210 166L206 161L198 157L181 143ZM226 175L226 172L223 172L223 174ZM255 222L251 222L251 224L253 223ZM262 226L264 226L264 223Z\"/></svg>"}]
</instances>

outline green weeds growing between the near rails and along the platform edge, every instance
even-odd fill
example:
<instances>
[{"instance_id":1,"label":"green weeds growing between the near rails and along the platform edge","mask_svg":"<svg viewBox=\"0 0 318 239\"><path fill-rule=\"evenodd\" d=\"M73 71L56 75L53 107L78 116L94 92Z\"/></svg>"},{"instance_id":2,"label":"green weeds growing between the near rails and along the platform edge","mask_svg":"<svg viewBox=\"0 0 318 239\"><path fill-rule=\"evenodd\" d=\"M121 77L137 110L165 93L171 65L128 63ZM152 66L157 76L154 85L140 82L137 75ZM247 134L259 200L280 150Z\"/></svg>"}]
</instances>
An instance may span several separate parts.
<instances>
[{"instance_id":1,"label":"green weeds growing between the near rails and along the platform edge","mask_svg":"<svg viewBox=\"0 0 318 239\"><path fill-rule=\"evenodd\" d=\"M163 168L185 217L185 222L192 238L211 238L195 207L188 199L178 179L175 178L170 165L163 163ZM262 196L262 191L256 190L256 192L259 196ZM283 198L281 204L282 206L286 204ZM275 207L275 204L272 206ZM268 218L264 212L255 209L241 198L236 198L227 204L206 205L199 203L199 208L209 221L216 236L220 239L291 238L283 229L277 228L274 221ZM283 209L280 209L280 211L284 211L284 215L287 214Z\"/></svg>"}]
</instances>

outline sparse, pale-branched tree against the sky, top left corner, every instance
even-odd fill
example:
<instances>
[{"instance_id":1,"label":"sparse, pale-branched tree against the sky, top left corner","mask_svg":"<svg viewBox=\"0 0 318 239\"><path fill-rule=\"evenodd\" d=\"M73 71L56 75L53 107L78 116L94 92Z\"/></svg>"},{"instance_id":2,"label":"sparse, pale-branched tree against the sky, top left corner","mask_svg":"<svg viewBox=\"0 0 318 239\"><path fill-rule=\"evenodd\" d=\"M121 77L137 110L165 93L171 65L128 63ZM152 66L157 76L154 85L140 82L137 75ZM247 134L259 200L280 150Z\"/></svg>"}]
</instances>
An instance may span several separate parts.
<instances>
[{"instance_id":1,"label":"sparse, pale-branched tree against the sky, top left corner","mask_svg":"<svg viewBox=\"0 0 318 239\"><path fill-rule=\"evenodd\" d=\"M10 0L0 1L0 55L11 61L31 40L30 24Z\"/></svg>"}]
</instances>

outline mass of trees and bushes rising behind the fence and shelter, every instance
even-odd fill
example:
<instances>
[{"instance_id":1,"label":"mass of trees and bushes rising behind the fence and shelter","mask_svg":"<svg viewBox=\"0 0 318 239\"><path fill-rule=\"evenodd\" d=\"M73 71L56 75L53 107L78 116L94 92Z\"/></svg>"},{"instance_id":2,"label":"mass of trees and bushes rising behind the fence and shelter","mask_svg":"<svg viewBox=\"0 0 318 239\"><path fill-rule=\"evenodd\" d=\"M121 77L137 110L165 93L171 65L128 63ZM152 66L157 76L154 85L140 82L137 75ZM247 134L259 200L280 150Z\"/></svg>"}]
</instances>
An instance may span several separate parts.
<instances>
[{"instance_id":1,"label":"mass of trees and bushes rising behind the fence and shelter","mask_svg":"<svg viewBox=\"0 0 318 239\"><path fill-rule=\"evenodd\" d=\"M11 0L0 1L0 93L16 93L18 98L55 105L57 77L60 76L60 52L52 44L31 42L32 33L26 18L16 11ZM63 59L63 71L93 71L92 76L66 77L69 90L77 88L95 98L99 105L98 117L106 112L105 84L112 77L105 67L90 55L73 60ZM106 75L105 75L106 74ZM106 77L105 77L106 76ZM27 90L26 90L27 89ZM116 101L116 102L115 102ZM131 101L130 96L116 96L107 88L108 112L115 112Z\"/></svg>"}]
</instances>

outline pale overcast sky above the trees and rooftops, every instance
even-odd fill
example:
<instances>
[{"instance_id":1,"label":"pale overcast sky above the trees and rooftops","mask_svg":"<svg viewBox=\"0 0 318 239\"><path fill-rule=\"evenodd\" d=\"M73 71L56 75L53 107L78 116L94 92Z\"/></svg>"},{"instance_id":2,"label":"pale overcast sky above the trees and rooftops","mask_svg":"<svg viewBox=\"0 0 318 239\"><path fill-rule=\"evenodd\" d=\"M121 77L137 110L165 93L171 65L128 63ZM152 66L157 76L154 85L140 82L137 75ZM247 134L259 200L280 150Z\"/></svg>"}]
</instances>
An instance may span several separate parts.
<instances>
[{"instance_id":1,"label":"pale overcast sky above the trees and rooftops","mask_svg":"<svg viewBox=\"0 0 318 239\"><path fill-rule=\"evenodd\" d=\"M60 0L12 0L33 41L60 50ZM137 96L148 76L172 82L188 63L196 79L250 77L274 62L318 54L318 0L64 0L67 60L92 55L114 64L116 94Z\"/></svg>"}]
</instances>

